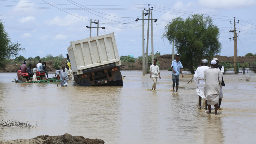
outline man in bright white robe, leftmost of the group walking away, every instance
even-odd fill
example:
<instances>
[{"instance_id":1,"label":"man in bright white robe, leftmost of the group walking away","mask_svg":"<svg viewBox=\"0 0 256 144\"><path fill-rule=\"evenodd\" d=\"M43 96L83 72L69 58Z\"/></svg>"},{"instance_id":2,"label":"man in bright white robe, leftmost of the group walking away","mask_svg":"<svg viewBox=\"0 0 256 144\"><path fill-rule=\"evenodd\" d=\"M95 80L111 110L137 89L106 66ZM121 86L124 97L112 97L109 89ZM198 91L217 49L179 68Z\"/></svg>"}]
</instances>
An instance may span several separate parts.
<instances>
[{"instance_id":1,"label":"man in bright white robe, leftmost of the group walking away","mask_svg":"<svg viewBox=\"0 0 256 144\"><path fill-rule=\"evenodd\" d=\"M207 110L207 98L204 95L204 86L205 86L205 79L204 79L204 72L206 69L209 69L207 66L208 60L202 60L202 66L197 67L196 72L194 74L194 83L196 84L196 93L198 94L198 103L199 107L201 108L201 99L205 100L205 109Z\"/></svg>"}]
</instances>

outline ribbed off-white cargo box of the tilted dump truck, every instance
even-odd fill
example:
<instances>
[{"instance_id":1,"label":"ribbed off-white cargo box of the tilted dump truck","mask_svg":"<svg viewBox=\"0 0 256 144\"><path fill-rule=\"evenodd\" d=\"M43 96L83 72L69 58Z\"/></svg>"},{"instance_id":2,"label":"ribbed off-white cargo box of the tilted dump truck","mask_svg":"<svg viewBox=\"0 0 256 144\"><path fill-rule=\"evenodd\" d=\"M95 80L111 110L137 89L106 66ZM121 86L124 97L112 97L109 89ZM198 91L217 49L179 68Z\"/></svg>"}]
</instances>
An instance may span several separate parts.
<instances>
[{"instance_id":1,"label":"ribbed off-white cargo box of the tilted dump truck","mask_svg":"<svg viewBox=\"0 0 256 144\"><path fill-rule=\"evenodd\" d=\"M73 72L83 74L83 70L115 64L121 66L114 33L70 42L68 55Z\"/></svg>"}]
</instances>

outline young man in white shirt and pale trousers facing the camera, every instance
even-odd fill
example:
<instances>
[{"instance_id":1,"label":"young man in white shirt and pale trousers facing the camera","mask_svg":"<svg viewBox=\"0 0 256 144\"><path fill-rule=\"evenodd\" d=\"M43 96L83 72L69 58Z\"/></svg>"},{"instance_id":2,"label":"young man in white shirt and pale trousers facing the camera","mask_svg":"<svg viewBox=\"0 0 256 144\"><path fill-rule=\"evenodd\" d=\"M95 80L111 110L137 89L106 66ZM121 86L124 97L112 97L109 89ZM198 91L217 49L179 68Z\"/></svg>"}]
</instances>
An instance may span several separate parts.
<instances>
[{"instance_id":1,"label":"young man in white shirt and pale trousers facing the camera","mask_svg":"<svg viewBox=\"0 0 256 144\"><path fill-rule=\"evenodd\" d=\"M159 80L161 80L159 67L156 65L157 59L154 59L154 64L150 66L149 74L150 78L152 78L154 84L152 86L152 90L156 90L156 81L157 81L157 74L159 75Z\"/></svg>"}]
</instances>

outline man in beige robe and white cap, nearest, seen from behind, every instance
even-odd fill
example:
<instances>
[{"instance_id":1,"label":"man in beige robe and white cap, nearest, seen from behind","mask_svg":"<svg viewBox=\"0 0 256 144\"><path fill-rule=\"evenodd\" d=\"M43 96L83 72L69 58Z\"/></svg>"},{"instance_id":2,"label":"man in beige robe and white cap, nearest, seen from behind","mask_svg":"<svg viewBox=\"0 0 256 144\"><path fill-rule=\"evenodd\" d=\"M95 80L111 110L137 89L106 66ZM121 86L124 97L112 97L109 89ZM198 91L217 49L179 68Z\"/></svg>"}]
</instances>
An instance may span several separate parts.
<instances>
[{"instance_id":1,"label":"man in beige robe and white cap, nearest, seen from behind","mask_svg":"<svg viewBox=\"0 0 256 144\"><path fill-rule=\"evenodd\" d=\"M211 67L206 69L204 72L205 86L204 86L204 95L208 99L208 109L211 113L211 105L214 106L215 114L218 110L219 94L220 94L220 85L222 82L222 77L219 69L216 69L216 61L211 61Z\"/></svg>"}]
</instances>

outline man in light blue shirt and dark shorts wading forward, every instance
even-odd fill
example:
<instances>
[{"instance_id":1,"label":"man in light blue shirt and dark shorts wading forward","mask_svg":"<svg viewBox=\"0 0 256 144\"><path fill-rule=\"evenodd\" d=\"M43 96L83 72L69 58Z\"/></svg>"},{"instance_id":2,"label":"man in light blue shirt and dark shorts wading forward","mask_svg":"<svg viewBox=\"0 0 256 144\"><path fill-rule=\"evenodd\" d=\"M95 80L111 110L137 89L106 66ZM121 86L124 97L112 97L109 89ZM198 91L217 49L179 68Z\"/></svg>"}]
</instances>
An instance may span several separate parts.
<instances>
[{"instance_id":1,"label":"man in light blue shirt and dark shorts wading forward","mask_svg":"<svg viewBox=\"0 0 256 144\"><path fill-rule=\"evenodd\" d=\"M182 64L179 61L180 54L176 54L176 60L172 61L172 75L173 75L173 92L175 92L175 82L176 82L176 91L178 92L178 86L179 86L179 74L181 73L182 77Z\"/></svg>"}]
</instances>

